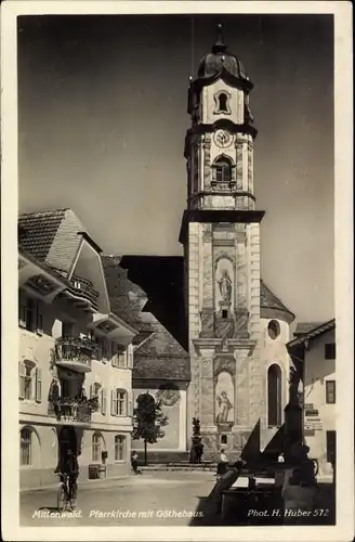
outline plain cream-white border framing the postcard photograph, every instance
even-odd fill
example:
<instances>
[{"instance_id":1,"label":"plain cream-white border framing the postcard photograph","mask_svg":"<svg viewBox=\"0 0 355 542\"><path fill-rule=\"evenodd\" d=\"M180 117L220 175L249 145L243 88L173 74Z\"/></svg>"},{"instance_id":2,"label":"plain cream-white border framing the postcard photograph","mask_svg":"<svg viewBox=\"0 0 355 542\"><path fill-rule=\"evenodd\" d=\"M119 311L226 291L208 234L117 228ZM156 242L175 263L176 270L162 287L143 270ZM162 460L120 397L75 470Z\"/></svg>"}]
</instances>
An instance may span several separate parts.
<instances>
[{"instance_id":1,"label":"plain cream-white border framing the postcard photograph","mask_svg":"<svg viewBox=\"0 0 355 542\"><path fill-rule=\"evenodd\" d=\"M35 14L329 13L334 15L336 318L338 487L336 527L19 527L17 393L16 16ZM354 535L353 103L351 2L5 1L1 7L2 537L3 540L347 541ZM300 36L300 39L302 37ZM314 256L316 258L316 255ZM338 399L339 398L339 399ZM16 453L15 453L16 451Z\"/></svg>"}]
</instances>

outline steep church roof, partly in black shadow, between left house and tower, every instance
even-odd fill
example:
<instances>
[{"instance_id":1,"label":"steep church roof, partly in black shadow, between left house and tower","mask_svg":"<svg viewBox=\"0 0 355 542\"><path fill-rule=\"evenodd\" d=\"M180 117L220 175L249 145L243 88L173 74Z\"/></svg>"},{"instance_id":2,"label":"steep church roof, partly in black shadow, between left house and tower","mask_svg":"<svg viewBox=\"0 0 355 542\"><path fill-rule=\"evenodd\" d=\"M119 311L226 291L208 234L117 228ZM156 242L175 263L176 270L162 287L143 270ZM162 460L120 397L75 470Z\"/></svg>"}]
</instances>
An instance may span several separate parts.
<instances>
[{"instance_id":1,"label":"steep church roof, partly in black shadow, between left house and tower","mask_svg":"<svg viewBox=\"0 0 355 542\"><path fill-rule=\"evenodd\" d=\"M175 259L103 256L102 261L113 309L139 332L133 380L188 382L189 356L184 348L187 333L183 335L179 319L183 307L176 302L180 295Z\"/></svg>"}]
</instances>

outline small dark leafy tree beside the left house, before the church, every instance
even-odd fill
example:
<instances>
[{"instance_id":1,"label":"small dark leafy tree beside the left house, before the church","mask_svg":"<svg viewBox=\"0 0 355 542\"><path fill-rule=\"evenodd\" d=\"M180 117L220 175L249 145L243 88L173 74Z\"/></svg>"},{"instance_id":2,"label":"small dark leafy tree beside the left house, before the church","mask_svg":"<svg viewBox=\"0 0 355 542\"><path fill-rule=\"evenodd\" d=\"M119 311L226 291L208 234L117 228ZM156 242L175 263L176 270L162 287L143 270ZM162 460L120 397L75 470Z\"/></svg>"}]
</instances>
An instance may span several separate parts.
<instances>
[{"instance_id":1,"label":"small dark leafy tree beside the left house, before the church","mask_svg":"<svg viewBox=\"0 0 355 542\"><path fill-rule=\"evenodd\" d=\"M144 464L147 464L147 444L154 444L165 436L162 427L168 425L168 416L148 391L141 393L133 410L133 440L144 441Z\"/></svg>"}]
</instances>

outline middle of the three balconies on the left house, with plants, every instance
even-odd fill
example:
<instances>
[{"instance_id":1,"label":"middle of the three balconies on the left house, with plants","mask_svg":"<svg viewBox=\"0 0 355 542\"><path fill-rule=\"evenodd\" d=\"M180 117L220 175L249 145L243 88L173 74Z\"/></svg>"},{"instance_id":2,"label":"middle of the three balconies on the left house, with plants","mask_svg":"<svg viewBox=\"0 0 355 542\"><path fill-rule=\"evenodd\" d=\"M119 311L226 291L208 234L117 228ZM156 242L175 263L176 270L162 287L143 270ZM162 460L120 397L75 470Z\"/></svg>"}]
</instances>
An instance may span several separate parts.
<instances>
[{"instance_id":1,"label":"middle of the three balconies on the left house, with plants","mask_svg":"<svg viewBox=\"0 0 355 542\"><path fill-rule=\"evenodd\" d=\"M88 337L60 337L55 341L55 363L77 373L90 373L97 345Z\"/></svg>"}]
</instances>

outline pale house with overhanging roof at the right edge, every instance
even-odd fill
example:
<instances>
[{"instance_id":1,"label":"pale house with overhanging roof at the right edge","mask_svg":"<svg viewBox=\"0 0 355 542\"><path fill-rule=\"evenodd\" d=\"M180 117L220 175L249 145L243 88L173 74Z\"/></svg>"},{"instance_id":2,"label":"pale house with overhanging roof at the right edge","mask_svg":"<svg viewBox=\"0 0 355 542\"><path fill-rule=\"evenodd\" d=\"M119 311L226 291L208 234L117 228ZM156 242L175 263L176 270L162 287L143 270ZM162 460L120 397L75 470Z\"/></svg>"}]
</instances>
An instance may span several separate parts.
<instances>
[{"instance_id":1,"label":"pale house with overhanging roof at the right edge","mask_svg":"<svg viewBox=\"0 0 355 542\"><path fill-rule=\"evenodd\" d=\"M299 326L288 349L302 364L304 441L310 457L318 461L318 479L331 481L337 455L336 321L307 327L304 332Z\"/></svg>"}]
</instances>

